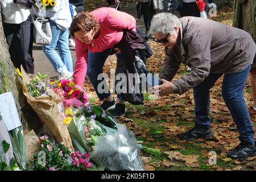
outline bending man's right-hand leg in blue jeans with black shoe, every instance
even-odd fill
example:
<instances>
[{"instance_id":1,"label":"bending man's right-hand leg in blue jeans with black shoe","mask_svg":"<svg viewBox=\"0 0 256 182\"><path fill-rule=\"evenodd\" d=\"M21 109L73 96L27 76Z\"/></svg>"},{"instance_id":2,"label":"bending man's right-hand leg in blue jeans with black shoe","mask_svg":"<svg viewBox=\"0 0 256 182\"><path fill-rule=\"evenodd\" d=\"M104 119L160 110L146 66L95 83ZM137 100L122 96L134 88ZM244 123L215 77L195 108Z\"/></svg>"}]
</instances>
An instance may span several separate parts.
<instances>
[{"instance_id":1,"label":"bending man's right-hand leg in blue jeans with black shoe","mask_svg":"<svg viewBox=\"0 0 256 182\"><path fill-rule=\"evenodd\" d=\"M222 97L228 107L240 134L241 143L228 152L228 158L245 159L255 150L254 129L250 121L249 111L243 98L243 89L249 75L251 65L239 73L226 74L222 83Z\"/></svg>"}]
</instances>

